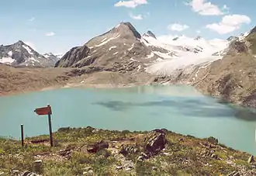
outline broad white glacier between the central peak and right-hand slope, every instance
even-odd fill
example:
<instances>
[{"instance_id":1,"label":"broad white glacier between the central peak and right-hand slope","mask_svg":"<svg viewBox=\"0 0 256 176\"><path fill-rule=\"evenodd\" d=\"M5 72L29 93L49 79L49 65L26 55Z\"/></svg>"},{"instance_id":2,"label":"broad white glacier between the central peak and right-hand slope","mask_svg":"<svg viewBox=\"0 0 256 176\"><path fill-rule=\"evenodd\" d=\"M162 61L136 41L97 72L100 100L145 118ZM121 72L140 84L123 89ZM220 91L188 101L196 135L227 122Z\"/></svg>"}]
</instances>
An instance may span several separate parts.
<instances>
[{"instance_id":1,"label":"broad white glacier between the central peak and right-hand slope","mask_svg":"<svg viewBox=\"0 0 256 176\"><path fill-rule=\"evenodd\" d=\"M164 60L157 60L147 67L151 74L170 75L175 70L198 65L205 65L222 58L216 54L228 47L227 40L206 40L202 37L189 38L187 36L160 36L154 38L144 35L141 42L153 49L153 53ZM157 48L158 51L155 51ZM164 52L161 52L161 48ZM213 54L215 53L215 54Z\"/></svg>"}]
</instances>

